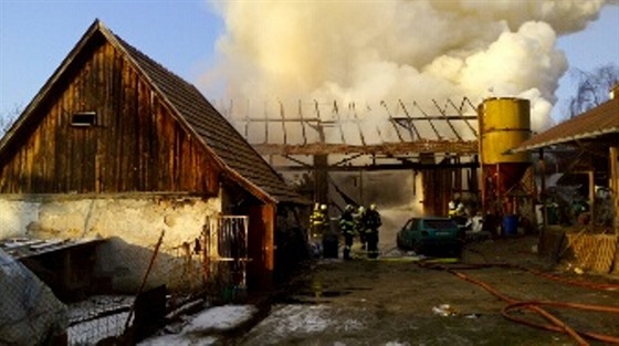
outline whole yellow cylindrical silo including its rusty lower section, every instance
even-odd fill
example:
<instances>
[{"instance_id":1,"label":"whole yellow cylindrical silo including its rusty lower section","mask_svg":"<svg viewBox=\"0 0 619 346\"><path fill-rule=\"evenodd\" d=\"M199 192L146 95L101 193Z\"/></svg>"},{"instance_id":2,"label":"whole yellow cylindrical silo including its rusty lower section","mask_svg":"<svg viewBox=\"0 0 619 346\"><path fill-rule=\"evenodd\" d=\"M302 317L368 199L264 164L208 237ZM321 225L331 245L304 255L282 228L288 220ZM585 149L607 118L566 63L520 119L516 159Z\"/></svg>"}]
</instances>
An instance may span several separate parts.
<instances>
[{"instance_id":1,"label":"whole yellow cylindrical silo including its rusty lower section","mask_svg":"<svg viewBox=\"0 0 619 346\"><path fill-rule=\"evenodd\" d=\"M516 233L514 220L520 212L518 198L523 197L517 195L522 190L517 187L531 167L531 155L512 154L510 149L531 137L531 103L514 97L487 98L478 107L478 117L482 208L486 217L502 219L505 234Z\"/></svg>"}]
</instances>

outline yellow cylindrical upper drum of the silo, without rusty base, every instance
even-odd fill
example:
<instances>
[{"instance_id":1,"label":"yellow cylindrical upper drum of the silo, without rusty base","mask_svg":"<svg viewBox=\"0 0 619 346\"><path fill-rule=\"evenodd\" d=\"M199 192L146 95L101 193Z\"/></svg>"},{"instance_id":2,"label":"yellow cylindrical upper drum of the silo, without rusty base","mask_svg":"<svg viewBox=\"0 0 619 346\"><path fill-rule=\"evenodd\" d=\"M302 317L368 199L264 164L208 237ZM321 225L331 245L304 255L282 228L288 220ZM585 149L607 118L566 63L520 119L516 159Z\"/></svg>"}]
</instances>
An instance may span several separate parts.
<instances>
[{"instance_id":1,"label":"yellow cylindrical upper drum of the silo, without rusty base","mask_svg":"<svg viewBox=\"0 0 619 346\"><path fill-rule=\"evenodd\" d=\"M478 107L482 165L528 162L528 153L507 154L531 137L531 103L515 97L487 98Z\"/></svg>"}]
</instances>

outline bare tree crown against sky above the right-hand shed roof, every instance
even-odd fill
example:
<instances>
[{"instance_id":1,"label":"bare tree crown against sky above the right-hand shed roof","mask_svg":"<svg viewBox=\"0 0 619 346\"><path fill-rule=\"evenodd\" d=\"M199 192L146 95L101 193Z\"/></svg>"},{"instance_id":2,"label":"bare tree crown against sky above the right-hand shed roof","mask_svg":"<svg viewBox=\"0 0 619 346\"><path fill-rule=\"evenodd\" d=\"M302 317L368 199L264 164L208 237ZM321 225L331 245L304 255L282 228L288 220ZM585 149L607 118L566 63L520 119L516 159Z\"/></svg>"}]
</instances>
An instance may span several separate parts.
<instances>
[{"instance_id":1,"label":"bare tree crown against sky above the right-hand shed roof","mask_svg":"<svg viewBox=\"0 0 619 346\"><path fill-rule=\"evenodd\" d=\"M613 63L592 72L575 69L571 73L577 83L576 95L569 101L570 118L608 101L610 90L619 83L619 67Z\"/></svg>"}]
</instances>

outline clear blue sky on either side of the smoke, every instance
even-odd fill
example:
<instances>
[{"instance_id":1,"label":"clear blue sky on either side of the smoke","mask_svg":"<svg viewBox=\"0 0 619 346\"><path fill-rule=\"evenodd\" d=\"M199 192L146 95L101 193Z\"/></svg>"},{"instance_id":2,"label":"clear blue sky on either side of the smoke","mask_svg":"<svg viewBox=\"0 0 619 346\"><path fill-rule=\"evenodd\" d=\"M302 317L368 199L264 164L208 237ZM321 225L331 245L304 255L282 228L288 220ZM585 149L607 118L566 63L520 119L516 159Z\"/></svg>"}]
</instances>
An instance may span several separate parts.
<instances>
[{"instance_id":1,"label":"clear blue sky on either side of the smoke","mask_svg":"<svg viewBox=\"0 0 619 346\"><path fill-rule=\"evenodd\" d=\"M189 82L214 63L221 18L204 0L0 0L0 114L23 108L95 19ZM591 71L619 64L619 6L607 6L586 30L558 45L570 67ZM558 114L574 91L566 73L557 91ZM210 97L210 95L206 95Z\"/></svg>"}]
</instances>

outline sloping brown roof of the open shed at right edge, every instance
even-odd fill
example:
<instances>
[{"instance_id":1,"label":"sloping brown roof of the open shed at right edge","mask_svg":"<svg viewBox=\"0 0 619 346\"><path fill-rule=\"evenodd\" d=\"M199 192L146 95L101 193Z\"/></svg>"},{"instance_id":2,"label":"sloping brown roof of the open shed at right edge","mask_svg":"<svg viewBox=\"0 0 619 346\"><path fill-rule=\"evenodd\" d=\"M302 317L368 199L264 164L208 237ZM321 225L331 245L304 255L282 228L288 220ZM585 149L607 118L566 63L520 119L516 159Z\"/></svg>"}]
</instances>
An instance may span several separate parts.
<instances>
[{"instance_id":1,"label":"sloping brown roof of the open shed at right edge","mask_svg":"<svg viewBox=\"0 0 619 346\"><path fill-rule=\"evenodd\" d=\"M511 151L535 150L579 139L619 134L619 98L610 99L523 141Z\"/></svg>"}]
</instances>

